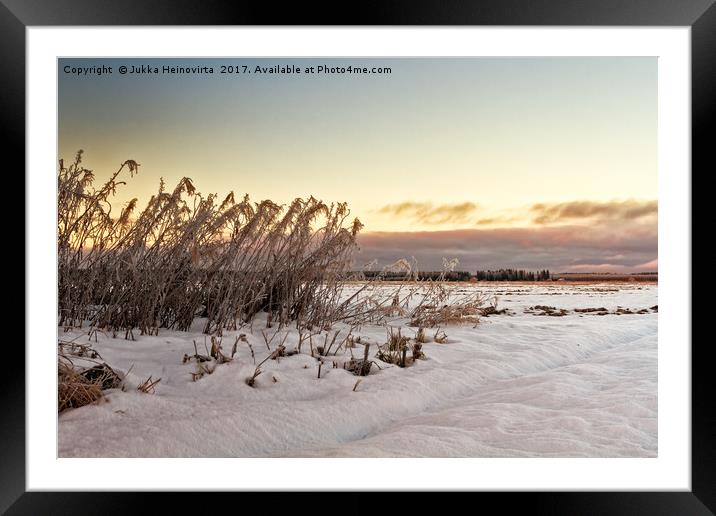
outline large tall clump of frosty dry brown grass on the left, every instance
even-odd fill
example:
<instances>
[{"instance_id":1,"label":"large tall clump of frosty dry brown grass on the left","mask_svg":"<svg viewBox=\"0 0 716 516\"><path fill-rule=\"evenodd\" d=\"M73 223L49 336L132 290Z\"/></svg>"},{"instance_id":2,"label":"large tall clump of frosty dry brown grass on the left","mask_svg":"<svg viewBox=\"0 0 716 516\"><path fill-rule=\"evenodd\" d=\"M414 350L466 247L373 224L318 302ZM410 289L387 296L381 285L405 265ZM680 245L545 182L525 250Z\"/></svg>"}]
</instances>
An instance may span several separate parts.
<instances>
[{"instance_id":1,"label":"large tall clump of frosty dry brown grass on the left","mask_svg":"<svg viewBox=\"0 0 716 516\"><path fill-rule=\"evenodd\" d=\"M204 331L250 323L267 312L267 326L290 321L330 326L341 281L362 228L346 225L345 203L310 197L288 206L202 196L189 178L158 192L137 212L111 197L139 170L125 161L102 186L83 167L82 151L58 172L59 324L84 321L116 336L160 328ZM298 324L298 323L297 323Z\"/></svg>"}]
</instances>

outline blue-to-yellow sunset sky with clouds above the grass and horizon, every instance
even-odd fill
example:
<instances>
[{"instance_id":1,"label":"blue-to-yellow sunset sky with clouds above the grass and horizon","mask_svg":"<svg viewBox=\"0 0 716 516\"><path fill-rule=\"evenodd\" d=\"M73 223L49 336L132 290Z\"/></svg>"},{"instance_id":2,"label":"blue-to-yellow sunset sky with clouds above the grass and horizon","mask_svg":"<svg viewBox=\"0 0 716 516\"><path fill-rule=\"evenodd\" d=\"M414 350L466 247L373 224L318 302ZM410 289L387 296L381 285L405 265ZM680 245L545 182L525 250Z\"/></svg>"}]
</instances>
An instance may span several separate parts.
<instances>
[{"instance_id":1,"label":"blue-to-yellow sunset sky with clouds above the grass and horizon","mask_svg":"<svg viewBox=\"0 0 716 516\"><path fill-rule=\"evenodd\" d=\"M120 75L119 65L389 66L384 75ZM112 75L65 74L65 65ZM656 58L60 59L59 157L203 193L347 201L359 261L654 270Z\"/></svg>"}]
</instances>

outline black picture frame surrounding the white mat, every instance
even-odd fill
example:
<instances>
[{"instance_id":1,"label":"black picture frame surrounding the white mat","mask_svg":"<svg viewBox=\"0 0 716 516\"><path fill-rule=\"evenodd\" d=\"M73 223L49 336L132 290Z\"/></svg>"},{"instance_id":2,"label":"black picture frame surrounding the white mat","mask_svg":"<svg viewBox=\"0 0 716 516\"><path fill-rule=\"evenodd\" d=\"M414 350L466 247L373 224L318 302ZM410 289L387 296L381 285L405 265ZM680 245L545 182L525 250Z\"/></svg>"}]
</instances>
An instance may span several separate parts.
<instances>
[{"instance_id":1,"label":"black picture frame surrounding the white mat","mask_svg":"<svg viewBox=\"0 0 716 516\"><path fill-rule=\"evenodd\" d=\"M714 0L399 0L342 4L341 9L336 6L337 3L293 3L278 8L270 2L219 0L0 0L0 63L3 70L0 117L4 132L2 141L6 149L12 150L8 154L12 154L12 159L17 162L14 170L25 170L24 152L20 149L25 148L26 27L286 24L689 26L692 44L691 180L696 175L694 171L700 171L700 175L705 176L707 170L713 168L710 135L716 114ZM693 263L692 258L692 270L696 266L698 264ZM27 277L27 268L25 274ZM28 343L25 345L28 346ZM690 492L480 493L480 505L484 501L496 501L501 511L519 507L538 514L713 514L716 511L716 403L712 400L714 375L708 360L711 345L711 339L696 340L691 348ZM164 509L174 506L182 512L204 512L207 503L213 505L230 496L220 493L193 496L190 493L25 492L25 384L28 379L24 377L24 358L22 364L16 363L19 358L15 354L15 367L6 369L0 375L3 401L0 418L0 511L7 511L7 514L126 514L149 510L149 504L159 501L157 498L161 497ZM312 496L311 493L292 493L290 504L305 504L309 508L316 500L309 499L309 496ZM360 497L361 494L351 496ZM278 510L277 501L280 498L271 495L272 510ZM346 509L354 505L354 500L344 498L339 503ZM364 504L372 503L369 499L358 502L355 512L361 505L367 509ZM418 493L400 498L403 510L423 503L423 496ZM462 502L454 499L453 503Z\"/></svg>"}]
</instances>

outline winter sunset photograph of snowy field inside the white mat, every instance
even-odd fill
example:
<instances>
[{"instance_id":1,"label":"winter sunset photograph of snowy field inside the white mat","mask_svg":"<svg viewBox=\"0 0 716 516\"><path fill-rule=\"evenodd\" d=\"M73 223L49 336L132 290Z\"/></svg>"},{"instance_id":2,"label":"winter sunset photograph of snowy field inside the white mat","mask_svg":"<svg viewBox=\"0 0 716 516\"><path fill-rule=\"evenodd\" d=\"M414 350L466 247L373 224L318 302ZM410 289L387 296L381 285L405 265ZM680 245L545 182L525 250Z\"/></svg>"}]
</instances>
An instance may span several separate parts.
<instances>
[{"instance_id":1,"label":"winter sunset photograph of snowy field inside the white mat","mask_svg":"<svg viewBox=\"0 0 716 516\"><path fill-rule=\"evenodd\" d=\"M658 456L656 57L57 73L59 457Z\"/></svg>"}]
</instances>

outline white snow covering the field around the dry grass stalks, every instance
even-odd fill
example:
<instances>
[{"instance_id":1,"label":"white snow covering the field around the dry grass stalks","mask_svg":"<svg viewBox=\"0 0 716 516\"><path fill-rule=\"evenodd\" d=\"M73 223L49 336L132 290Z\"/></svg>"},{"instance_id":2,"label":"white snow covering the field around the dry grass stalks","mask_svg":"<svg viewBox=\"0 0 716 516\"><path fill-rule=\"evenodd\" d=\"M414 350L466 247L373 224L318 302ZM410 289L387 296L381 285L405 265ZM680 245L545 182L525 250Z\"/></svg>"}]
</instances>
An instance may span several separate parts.
<instances>
[{"instance_id":1,"label":"white snow covering the field around the dry grass stalks","mask_svg":"<svg viewBox=\"0 0 716 516\"><path fill-rule=\"evenodd\" d=\"M424 344L426 360L404 369L374 367L355 391L360 377L333 368L333 357L318 378L318 361L305 344L301 354L268 360L252 388L245 380L254 372L254 359L243 342L233 362L192 381L196 364L182 363L182 357L194 353L193 340L205 352L200 321L192 333L160 331L136 341L100 333L93 347L115 370L131 367L130 388L107 391L105 402L60 414L59 456L657 455L656 285L459 288L497 296L498 308L510 312L483 317L477 327L442 328L448 341ZM567 313L548 315L530 310L534 306ZM620 308L643 313L619 314ZM413 336L416 329L405 322L390 325ZM269 354L261 328L257 322L253 333L225 333L224 353L238 333L246 333L259 363ZM432 337L434 330L426 333ZM363 326L354 335L372 343L372 356L386 341L386 328ZM60 333L62 340L75 337L87 343L82 331ZM287 350L297 342L293 329ZM352 352L362 357L362 344ZM132 388L149 375L161 378L155 394Z\"/></svg>"}]
</instances>

